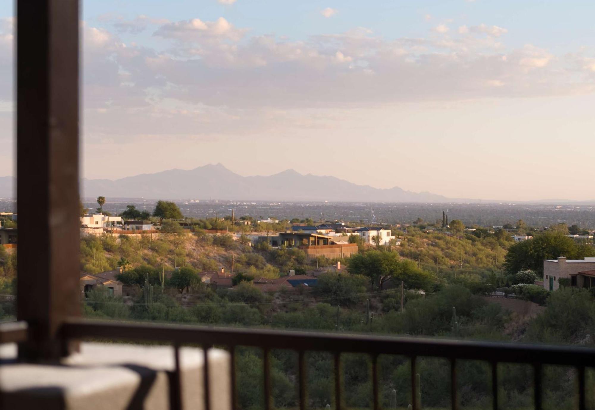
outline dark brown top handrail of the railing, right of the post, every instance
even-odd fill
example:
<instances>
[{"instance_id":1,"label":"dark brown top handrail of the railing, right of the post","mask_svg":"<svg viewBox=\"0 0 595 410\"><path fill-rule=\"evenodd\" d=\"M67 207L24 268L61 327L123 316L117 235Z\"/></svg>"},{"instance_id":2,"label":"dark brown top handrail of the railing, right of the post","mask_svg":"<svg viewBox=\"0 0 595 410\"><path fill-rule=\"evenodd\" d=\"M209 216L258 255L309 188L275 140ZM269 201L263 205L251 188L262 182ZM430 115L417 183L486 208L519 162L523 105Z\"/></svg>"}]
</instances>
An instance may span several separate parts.
<instances>
[{"instance_id":1,"label":"dark brown top handrail of the railing, right of the post","mask_svg":"<svg viewBox=\"0 0 595 410\"><path fill-rule=\"evenodd\" d=\"M258 346L267 349L396 354L595 367L595 349L584 346L314 333L293 330L236 329L76 318L64 323L62 336L66 339L152 340L180 344Z\"/></svg>"}]
</instances>

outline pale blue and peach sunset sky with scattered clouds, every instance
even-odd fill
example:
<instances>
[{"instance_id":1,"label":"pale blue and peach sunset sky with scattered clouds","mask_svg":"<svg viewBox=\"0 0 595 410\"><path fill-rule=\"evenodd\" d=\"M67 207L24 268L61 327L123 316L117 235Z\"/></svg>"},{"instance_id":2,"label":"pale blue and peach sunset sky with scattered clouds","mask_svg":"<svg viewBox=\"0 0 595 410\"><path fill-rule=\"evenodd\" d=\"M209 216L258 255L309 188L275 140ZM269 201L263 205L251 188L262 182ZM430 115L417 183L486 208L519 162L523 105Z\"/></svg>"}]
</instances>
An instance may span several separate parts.
<instances>
[{"instance_id":1,"label":"pale blue and peach sunset sky with scattered clouds","mask_svg":"<svg viewBox=\"0 0 595 410\"><path fill-rule=\"evenodd\" d=\"M82 176L223 163L595 199L595 2L83 1ZM14 175L0 3L0 176Z\"/></svg>"}]
</instances>

